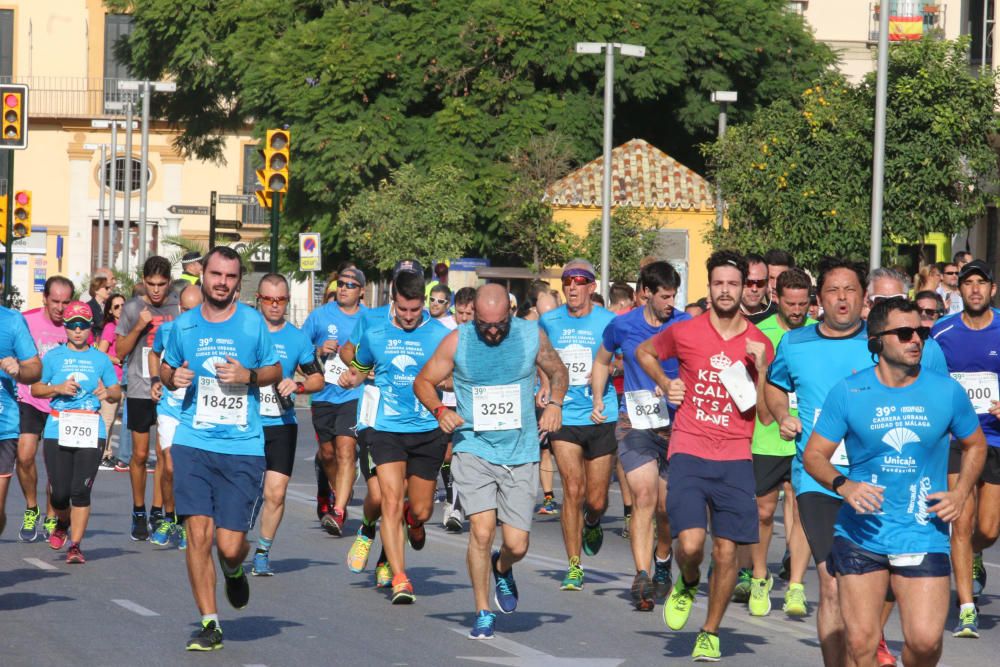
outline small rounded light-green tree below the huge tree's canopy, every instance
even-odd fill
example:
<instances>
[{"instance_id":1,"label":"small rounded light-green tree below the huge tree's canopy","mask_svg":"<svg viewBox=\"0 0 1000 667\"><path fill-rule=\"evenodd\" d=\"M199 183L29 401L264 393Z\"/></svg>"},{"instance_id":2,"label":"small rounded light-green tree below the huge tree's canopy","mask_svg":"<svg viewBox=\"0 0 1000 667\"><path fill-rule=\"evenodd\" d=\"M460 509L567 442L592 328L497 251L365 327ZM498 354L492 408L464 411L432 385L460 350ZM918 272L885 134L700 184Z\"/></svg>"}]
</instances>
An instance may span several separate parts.
<instances>
[{"instance_id":1,"label":"small rounded light-green tree below the huge tree's canopy","mask_svg":"<svg viewBox=\"0 0 1000 667\"><path fill-rule=\"evenodd\" d=\"M462 256L472 244L472 201L455 187L461 180L453 167L424 174L408 164L352 199L342 218L354 256L382 271L401 259L430 266Z\"/></svg>"}]
</instances>

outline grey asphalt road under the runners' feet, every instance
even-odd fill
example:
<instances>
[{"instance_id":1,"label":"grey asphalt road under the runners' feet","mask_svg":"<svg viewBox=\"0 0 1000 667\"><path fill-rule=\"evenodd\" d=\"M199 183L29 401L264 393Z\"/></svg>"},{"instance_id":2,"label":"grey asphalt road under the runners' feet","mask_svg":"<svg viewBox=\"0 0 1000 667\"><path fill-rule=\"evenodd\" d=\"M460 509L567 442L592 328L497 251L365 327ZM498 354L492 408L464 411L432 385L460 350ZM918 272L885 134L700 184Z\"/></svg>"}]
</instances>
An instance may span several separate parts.
<instances>
[{"instance_id":1,"label":"grey asphalt road under the runners' feet","mask_svg":"<svg viewBox=\"0 0 1000 667\"><path fill-rule=\"evenodd\" d=\"M467 534L449 534L441 528L441 505L429 525L425 548L407 554L417 602L391 605L388 592L374 588L377 554L365 573L352 574L346 556L353 538L333 538L319 527L311 463L315 438L308 412L300 410L299 417L298 462L285 519L272 548L277 574L250 579L250 605L241 612L228 607L220 585L225 648L211 654L184 651L199 615L183 553L128 538L131 503L126 474L99 474L83 544L85 565L67 565L64 553L52 551L46 542L16 541L23 496L13 482L7 529L0 537L0 665L611 667L690 660L705 614L705 597L699 596L688 627L681 632L664 626L660 606L652 613L632 610L628 589L634 572L628 543L620 537L617 485L604 520L604 546L596 557L585 557L586 579L580 592L559 590L566 558L558 517L536 518L528 557L515 568L521 594L518 610L498 615L493 641L466 639L473 618L465 569ZM41 460L39 465L44 475ZM348 520L347 532L352 535L362 495L359 482ZM784 546L779 525L770 551L774 571ZM1000 549L987 552L986 561L991 579L1000 581ZM947 634L942 664L994 664L1000 648L996 627L1000 605L988 593L997 586L988 583L987 595L980 599L982 638L959 640ZM770 616L753 618L745 606L730 606L721 633L724 662L753 667L820 664L813 615L816 576L811 569L806 590L810 615L802 620L787 619L781 612L780 580L772 592ZM949 628L953 623L954 614ZM887 637L898 654L902 635L897 615Z\"/></svg>"}]
</instances>

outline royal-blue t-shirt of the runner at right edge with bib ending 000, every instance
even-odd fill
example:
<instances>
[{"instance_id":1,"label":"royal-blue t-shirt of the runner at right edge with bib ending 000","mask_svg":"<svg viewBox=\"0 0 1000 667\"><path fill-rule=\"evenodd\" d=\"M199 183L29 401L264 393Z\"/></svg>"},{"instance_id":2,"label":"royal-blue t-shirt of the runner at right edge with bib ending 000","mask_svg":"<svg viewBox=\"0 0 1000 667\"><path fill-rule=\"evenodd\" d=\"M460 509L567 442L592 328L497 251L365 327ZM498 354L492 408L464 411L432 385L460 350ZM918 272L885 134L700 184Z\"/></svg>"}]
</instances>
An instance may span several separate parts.
<instances>
[{"instance_id":1,"label":"royal-blue t-shirt of the runner at right edge with bib ending 000","mask_svg":"<svg viewBox=\"0 0 1000 667\"><path fill-rule=\"evenodd\" d=\"M931 337L944 351L950 373L993 373L1000 375L1000 316L985 329L966 326L961 314L938 320ZM994 382L996 380L994 379ZM1000 447L1000 420L989 413L979 415L986 444Z\"/></svg>"}]
</instances>

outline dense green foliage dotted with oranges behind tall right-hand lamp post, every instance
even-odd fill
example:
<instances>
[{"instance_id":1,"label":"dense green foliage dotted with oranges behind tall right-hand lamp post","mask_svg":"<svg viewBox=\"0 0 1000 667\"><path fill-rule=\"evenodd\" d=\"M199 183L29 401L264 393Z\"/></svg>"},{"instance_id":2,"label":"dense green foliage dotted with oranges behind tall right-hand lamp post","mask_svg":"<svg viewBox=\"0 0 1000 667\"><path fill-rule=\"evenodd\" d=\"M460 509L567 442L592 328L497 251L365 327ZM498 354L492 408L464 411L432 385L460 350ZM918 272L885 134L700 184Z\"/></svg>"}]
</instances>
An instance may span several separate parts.
<instances>
[{"instance_id":1,"label":"dense green foliage dotted with oranges behind tall right-hand lamp post","mask_svg":"<svg viewBox=\"0 0 1000 667\"><path fill-rule=\"evenodd\" d=\"M895 243L974 224L995 201L990 138L996 81L972 73L968 42L894 45L889 60L884 259ZM859 85L828 75L777 102L707 148L728 204L717 247L867 258L870 246L875 75Z\"/></svg>"}]
</instances>

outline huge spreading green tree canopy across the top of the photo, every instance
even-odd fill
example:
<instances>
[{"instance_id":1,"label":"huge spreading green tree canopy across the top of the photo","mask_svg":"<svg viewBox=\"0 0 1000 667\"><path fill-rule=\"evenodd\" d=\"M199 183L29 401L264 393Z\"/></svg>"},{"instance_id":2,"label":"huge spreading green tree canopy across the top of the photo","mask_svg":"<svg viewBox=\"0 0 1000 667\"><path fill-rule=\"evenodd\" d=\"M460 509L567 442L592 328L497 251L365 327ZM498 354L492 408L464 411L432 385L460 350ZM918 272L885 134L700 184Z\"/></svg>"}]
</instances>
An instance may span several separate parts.
<instances>
[{"instance_id":1,"label":"huge spreading green tree canopy across the top of the photo","mask_svg":"<svg viewBox=\"0 0 1000 667\"><path fill-rule=\"evenodd\" d=\"M311 229L334 254L345 203L406 163L460 170L473 250L502 252L505 160L552 131L574 161L600 152L603 59L578 40L647 47L616 67L616 141L641 136L696 168L712 90L739 91L738 122L833 61L785 0L105 1L134 12L121 55L135 75L176 80L157 113L187 154L219 158L222 134L248 122L291 128L282 245Z\"/></svg>"}]
</instances>

